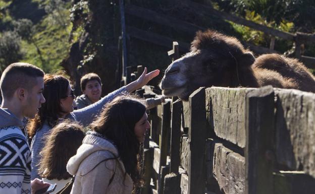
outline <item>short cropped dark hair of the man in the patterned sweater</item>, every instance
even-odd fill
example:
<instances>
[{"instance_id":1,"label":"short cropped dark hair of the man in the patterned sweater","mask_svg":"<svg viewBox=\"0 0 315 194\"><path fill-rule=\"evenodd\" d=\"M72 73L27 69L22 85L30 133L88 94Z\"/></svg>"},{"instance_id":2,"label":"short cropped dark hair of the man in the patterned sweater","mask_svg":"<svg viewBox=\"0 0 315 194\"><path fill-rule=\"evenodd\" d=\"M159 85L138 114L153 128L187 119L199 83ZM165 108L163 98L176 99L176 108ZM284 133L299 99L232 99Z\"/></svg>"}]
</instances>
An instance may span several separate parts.
<instances>
[{"instance_id":1,"label":"short cropped dark hair of the man in the patterned sweater","mask_svg":"<svg viewBox=\"0 0 315 194\"><path fill-rule=\"evenodd\" d=\"M10 64L3 72L0 88L3 98L11 99L14 92L22 87L31 90L36 85L37 77L44 77L44 72L25 62Z\"/></svg>"}]
</instances>

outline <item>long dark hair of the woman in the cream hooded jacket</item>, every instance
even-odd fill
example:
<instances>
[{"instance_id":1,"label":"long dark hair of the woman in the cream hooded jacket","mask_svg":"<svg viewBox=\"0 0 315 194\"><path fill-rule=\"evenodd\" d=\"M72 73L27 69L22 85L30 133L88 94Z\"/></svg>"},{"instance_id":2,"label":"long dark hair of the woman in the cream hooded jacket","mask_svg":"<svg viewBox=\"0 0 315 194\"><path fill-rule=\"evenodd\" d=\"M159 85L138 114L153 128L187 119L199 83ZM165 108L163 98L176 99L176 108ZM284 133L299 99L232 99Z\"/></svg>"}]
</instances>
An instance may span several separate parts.
<instances>
[{"instance_id":1,"label":"long dark hair of the woman in the cream hooded jacket","mask_svg":"<svg viewBox=\"0 0 315 194\"><path fill-rule=\"evenodd\" d=\"M131 95L119 96L106 104L99 117L90 125L92 131L102 134L115 144L135 187L140 184L140 143L134 127L144 113L145 105L141 100Z\"/></svg>"}]
</instances>

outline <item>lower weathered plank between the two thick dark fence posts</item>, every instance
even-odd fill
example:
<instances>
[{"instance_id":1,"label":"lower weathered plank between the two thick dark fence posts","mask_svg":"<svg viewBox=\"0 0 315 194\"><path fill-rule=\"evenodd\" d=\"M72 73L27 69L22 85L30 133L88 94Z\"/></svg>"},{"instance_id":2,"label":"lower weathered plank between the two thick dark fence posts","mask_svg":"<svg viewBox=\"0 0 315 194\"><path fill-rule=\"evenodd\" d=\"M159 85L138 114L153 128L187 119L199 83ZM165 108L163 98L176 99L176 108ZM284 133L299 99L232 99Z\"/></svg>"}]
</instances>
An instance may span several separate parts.
<instances>
[{"instance_id":1,"label":"lower weathered plank between the two thick dark fence posts","mask_svg":"<svg viewBox=\"0 0 315 194\"><path fill-rule=\"evenodd\" d=\"M207 146L207 180L214 176L224 193L244 193L245 158L218 141L208 140Z\"/></svg>"}]
</instances>

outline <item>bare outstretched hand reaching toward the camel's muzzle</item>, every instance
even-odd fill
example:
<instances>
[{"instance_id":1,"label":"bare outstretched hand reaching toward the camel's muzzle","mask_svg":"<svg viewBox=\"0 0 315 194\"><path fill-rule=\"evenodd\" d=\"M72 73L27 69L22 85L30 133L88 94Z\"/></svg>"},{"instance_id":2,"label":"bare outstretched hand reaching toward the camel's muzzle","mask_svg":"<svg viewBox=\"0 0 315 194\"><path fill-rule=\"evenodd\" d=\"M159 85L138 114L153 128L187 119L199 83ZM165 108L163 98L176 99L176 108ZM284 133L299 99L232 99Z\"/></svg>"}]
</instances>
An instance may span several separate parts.
<instances>
[{"instance_id":1,"label":"bare outstretched hand reaching toward the camel's muzzle","mask_svg":"<svg viewBox=\"0 0 315 194\"><path fill-rule=\"evenodd\" d=\"M147 74L147 69L144 68L144 71L141 74L141 76L136 81L133 81L130 84L128 84L126 86L126 90L129 93L131 93L131 92L141 88L142 86L145 86L150 80L152 80L153 78L155 78L159 74L160 74L160 70L154 70L154 71Z\"/></svg>"}]
</instances>

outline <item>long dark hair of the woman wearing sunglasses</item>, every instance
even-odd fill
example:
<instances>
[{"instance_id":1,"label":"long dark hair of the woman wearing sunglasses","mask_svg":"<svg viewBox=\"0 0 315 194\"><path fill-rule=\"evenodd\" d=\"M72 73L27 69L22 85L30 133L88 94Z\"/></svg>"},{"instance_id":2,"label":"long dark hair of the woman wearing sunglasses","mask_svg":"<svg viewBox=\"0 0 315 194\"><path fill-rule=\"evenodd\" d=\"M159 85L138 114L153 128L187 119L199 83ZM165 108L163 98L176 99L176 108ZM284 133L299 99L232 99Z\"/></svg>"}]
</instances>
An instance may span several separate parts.
<instances>
[{"instance_id":1,"label":"long dark hair of the woman wearing sunglasses","mask_svg":"<svg viewBox=\"0 0 315 194\"><path fill-rule=\"evenodd\" d=\"M63 112L60 100L67 94L68 86L69 80L62 73L46 74L44 76L43 96L46 102L41 104L35 118L28 124L30 138L43 126L45 120L50 126L55 126L58 118L60 118L59 114Z\"/></svg>"}]
</instances>

